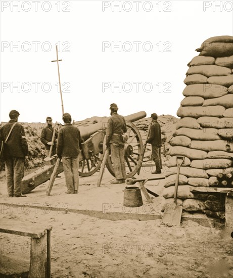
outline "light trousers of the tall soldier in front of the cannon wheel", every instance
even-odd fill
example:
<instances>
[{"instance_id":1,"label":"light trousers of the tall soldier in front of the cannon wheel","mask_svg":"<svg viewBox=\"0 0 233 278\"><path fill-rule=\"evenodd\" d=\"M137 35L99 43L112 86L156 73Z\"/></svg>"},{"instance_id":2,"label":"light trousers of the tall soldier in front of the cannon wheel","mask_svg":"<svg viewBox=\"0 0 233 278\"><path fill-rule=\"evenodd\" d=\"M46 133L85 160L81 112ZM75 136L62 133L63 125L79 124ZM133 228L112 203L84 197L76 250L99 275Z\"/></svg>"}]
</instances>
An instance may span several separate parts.
<instances>
[{"instance_id":1,"label":"light trousers of the tall soldier in front of the cannon wheel","mask_svg":"<svg viewBox=\"0 0 233 278\"><path fill-rule=\"evenodd\" d=\"M110 149L116 179L126 179L124 144L111 143Z\"/></svg>"}]
</instances>

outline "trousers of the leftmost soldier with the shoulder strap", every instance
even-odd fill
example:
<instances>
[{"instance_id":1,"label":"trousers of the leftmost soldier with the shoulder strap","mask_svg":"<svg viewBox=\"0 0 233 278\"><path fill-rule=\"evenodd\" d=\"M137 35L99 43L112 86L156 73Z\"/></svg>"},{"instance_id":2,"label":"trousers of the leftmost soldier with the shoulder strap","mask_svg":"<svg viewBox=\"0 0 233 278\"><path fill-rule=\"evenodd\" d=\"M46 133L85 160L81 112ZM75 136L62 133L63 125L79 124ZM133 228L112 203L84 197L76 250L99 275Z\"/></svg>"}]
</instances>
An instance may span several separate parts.
<instances>
[{"instance_id":1,"label":"trousers of the leftmost soldier with the shoulder strap","mask_svg":"<svg viewBox=\"0 0 233 278\"><path fill-rule=\"evenodd\" d=\"M21 157L6 158L7 191L9 196L19 196L22 192L24 160Z\"/></svg>"}]
</instances>

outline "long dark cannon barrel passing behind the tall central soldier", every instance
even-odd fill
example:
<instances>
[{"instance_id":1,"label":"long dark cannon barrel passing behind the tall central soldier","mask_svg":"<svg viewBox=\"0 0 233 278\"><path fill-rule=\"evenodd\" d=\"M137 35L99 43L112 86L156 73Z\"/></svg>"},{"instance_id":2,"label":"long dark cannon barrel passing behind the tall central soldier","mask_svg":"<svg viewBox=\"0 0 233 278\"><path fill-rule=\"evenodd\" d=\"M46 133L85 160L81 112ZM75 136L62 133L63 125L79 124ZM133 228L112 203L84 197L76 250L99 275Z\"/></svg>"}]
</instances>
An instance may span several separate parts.
<instances>
[{"instance_id":1,"label":"long dark cannon barrel passing behind the tall central soldier","mask_svg":"<svg viewBox=\"0 0 233 278\"><path fill-rule=\"evenodd\" d=\"M134 122L139 119L145 118L147 116L147 113L145 111L137 112L134 114L130 114L127 116L124 116L126 121ZM105 117L103 121L90 124L88 126L80 125L78 126L78 129L80 130L81 138L83 140L87 140L92 134L97 132L98 130L105 129L107 127L107 123L110 117Z\"/></svg>"}]
</instances>

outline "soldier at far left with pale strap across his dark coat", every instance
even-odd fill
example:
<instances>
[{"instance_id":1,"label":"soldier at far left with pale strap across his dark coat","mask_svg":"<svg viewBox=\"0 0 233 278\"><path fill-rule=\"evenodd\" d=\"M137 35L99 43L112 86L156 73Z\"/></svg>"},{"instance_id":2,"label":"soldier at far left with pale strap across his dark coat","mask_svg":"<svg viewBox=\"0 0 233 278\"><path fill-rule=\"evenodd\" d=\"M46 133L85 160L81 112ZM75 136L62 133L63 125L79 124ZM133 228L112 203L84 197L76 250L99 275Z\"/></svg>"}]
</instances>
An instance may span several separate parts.
<instances>
[{"instance_id":1,"label":"soldier at far left with pale strap across his dark coat","mask_svg":"<svg viewBox=\"0 0 233 278\"><path fill-rule=\"evenodd\" d=\"M24 128L18 123L19 112L11 110L9 117L11 120L0 129L0 140L6 142L4 156L8 195L9 197L26 197L22 195L22 178L28 145Z\"/></svg>"}]
</instances>

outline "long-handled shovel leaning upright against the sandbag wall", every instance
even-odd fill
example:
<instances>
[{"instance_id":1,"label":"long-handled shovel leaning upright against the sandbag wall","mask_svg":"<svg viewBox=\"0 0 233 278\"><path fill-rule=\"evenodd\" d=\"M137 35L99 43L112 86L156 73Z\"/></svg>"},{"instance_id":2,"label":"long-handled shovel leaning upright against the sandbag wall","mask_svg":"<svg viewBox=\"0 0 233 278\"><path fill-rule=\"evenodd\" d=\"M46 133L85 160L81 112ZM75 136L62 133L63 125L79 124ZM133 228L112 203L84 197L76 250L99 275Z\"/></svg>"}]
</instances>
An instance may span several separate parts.
<instances>
[{"instance_id":1,"label":"long-handled shovel leaning upright against the sandbag wall","mask_svg":"<svg viewBox=\"0 0 233 278\"><path fill-rule=\"evenodd\" d=\"M163 214L162 223L168 226L179 226L182 214L182 206L176 204L177 199L177 188L179 183L179 169L184 161L184 156L177 156L176 157L176 164L177 164L177 174L175 179L175 189L174 189L174 202L169 205L168 208L165 209Z\"/></svg>"}]
</instances>

